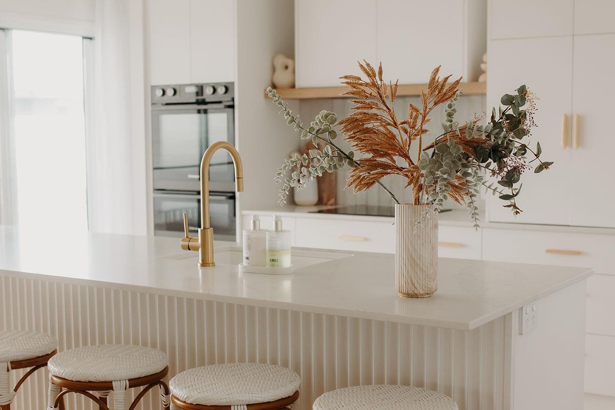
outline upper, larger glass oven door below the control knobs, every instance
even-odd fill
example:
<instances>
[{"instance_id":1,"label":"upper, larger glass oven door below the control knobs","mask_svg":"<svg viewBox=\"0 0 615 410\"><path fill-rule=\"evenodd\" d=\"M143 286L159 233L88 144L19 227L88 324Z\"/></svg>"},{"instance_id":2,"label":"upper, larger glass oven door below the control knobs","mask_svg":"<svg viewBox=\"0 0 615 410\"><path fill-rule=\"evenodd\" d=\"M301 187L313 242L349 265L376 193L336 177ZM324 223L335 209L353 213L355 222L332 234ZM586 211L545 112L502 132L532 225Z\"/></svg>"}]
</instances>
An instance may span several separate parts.
<instances>
[{"instance_id":1,"label":"upper, larger glass oven door below the control knobs","mask_svg":"<svg viewBox=\"0 0 615 410\"><path fill-rule=\"evenodd\" d=\"M234 144L234 109L189 104L152 108L154 189L199 189L199 165L208 146ZM234 168L228 152L217 151L209 168L212 189L233 191Z\"/></svg>"}]
</instances>

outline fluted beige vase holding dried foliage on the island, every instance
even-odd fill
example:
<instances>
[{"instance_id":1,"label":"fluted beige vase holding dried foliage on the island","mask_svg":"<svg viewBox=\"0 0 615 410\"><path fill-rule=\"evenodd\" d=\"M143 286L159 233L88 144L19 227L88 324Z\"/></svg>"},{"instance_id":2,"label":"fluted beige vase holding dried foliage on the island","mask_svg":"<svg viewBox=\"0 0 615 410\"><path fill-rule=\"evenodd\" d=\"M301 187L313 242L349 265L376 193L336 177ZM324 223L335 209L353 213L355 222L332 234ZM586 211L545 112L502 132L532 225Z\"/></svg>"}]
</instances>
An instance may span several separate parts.
<instances>
[{"instance_id":1,"label":"fluted beige vase holding dried foliage on the island","mask_svg":"<svg viewBox=\"0 0 615 410\"><path fill-rule=\"evenodd\" d=\"M427 205L395 205L395 286L406 298L427 298L438 290L438 214L415 229Z\"/></svg>"}]
</instances>

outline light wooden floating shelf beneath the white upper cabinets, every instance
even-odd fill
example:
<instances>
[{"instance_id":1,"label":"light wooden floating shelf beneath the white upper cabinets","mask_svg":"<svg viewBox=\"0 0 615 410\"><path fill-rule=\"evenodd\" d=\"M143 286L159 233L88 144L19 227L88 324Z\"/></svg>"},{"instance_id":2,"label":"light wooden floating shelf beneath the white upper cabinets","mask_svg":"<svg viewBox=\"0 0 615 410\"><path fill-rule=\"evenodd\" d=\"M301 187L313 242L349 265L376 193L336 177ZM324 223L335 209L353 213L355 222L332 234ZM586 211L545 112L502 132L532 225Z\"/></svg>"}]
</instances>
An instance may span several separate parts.
<instances>
[{"instance_id":1,"label":"light wooden floating shelf beneath the white upper cabinets","mask_svg":"<svg viewBox=\"0 0 615 410\"><path fill-rule=\"evenodd\" d=\"M421 95L421 90L426 89L427 84L400 84L397 89L397 97L409 97ZM463 95L485 95L487 84L485 82L462 82L459 88ZM309 98L351 98L342 95L348 90L347 87L305 87L299 89L277 89L277 93L285 100L308 100ZM265 98L269 96L265 93Z\"/></svg>"}]
</instances>

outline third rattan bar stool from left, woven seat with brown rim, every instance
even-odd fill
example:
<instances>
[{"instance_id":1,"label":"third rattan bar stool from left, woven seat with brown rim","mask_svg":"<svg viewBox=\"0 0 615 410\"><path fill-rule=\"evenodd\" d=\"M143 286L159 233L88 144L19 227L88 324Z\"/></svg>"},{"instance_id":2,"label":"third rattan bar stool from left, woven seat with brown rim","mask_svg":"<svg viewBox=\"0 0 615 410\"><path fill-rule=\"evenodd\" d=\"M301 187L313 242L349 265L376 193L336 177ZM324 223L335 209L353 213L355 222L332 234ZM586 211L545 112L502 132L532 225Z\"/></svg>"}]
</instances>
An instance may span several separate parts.
<instances>
[{"instance_id":1,"label":"third rattan bar stool from left, woven seat with brown rim","mask_svg":"<svg viewBox=\"0 0 615 410\"><path fill-rule=\"evenodd\" d=\"M183 371L169 387L172 406L182 410L278 410L298 408L300 384L291 369L229 363Z\"/></svg>"}]
</instances>

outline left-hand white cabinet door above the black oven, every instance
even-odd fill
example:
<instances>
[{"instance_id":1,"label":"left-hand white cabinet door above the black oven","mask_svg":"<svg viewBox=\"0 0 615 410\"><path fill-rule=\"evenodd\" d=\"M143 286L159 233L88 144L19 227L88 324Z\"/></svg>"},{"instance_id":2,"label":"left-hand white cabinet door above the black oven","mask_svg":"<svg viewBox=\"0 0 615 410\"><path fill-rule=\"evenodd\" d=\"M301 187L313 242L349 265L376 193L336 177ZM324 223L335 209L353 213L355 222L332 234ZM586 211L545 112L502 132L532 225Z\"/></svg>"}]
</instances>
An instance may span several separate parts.
<instances>
[{"instance_id":1,"label":"left-hand white cabinet door above the black oven","mask_svg":"<svg viewBox=\"0 0 615 410\"><path fill-rule=\"evenodd\" d=\"M149 4L151 84L190 82L189 0L152 0Z\"/></svg>"}]
</instances>

